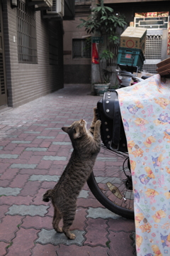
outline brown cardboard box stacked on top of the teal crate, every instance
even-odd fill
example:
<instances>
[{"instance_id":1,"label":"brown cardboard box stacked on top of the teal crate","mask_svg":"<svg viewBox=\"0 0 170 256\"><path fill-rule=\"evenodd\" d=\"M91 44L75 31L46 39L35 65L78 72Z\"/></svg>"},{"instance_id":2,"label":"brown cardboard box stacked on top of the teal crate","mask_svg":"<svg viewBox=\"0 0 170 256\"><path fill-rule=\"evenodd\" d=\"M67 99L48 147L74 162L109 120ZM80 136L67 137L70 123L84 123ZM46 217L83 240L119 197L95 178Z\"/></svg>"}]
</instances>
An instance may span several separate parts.
<instances>
[{"instance_id":1,"label":"brown cardboard box stacked on top of the teal crate","mask_svg":"<svg viewBox=\"0 0 170 256\"><path fill-rule=\"evenodd\" d=\"M146 28L128 27L120 36L120 47L141 49L145 53Z\"/></svg>"}]
</instances>

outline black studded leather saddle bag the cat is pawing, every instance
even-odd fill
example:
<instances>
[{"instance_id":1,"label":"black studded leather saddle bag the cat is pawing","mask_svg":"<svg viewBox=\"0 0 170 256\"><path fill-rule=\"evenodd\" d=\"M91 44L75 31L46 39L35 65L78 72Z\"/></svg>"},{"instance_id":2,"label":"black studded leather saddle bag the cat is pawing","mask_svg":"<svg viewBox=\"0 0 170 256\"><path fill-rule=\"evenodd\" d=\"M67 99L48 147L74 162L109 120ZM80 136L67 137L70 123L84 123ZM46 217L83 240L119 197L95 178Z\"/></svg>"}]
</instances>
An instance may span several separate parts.
<instances>
[{"instance_id":1,"label":"black studded leather saddle bag the cat is pawing","mask_svg":"<svg viewBox=\"0 0 170 256\"><path fill-rule=\"evenodd\" d=\"M97 103L98 119L101 120L101 139L111 150L128 152L125 130L120 114L118 92L105 92Z\"/></svg>"}]
</instances>

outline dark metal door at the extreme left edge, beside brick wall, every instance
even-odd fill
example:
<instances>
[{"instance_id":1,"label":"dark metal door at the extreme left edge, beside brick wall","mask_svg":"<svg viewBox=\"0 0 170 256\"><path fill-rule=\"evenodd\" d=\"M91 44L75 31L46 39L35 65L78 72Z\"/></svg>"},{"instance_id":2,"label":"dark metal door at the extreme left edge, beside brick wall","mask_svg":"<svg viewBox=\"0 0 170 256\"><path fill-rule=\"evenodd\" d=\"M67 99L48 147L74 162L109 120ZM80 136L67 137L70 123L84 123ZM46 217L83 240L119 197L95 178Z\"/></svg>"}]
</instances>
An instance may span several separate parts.
<instances>
[{"instance_id":1,"label":"dark metal door at the extreme left edge, beside brick wall","mask_svg":"<svg viewBox=\"0 0 170 256\"><path fill-rule=\"evenodd\" d=\"M4 58L4 33L2 8L0 0L0 107L7 104L6 94L6 73L5 73L5 58Z\"/></svg>"}]
</instances>

